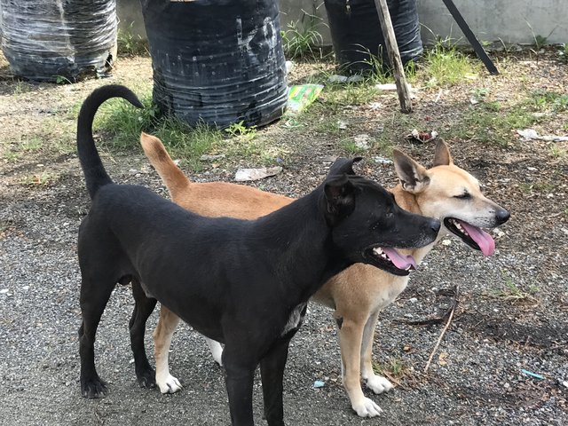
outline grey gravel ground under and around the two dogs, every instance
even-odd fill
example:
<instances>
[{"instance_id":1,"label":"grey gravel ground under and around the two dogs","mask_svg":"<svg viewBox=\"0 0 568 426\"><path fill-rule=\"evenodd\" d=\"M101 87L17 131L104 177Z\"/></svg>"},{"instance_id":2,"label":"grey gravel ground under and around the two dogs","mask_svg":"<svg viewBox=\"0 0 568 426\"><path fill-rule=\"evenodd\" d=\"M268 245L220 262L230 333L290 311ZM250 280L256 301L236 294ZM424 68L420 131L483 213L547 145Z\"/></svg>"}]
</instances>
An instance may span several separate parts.
<instances>
[{"instance_id":1,"label":"grey gravel ground under and around the two dogs","mask_svg":"<svg viewBox=\"0 0 568 426\"><path fill-rule=\"evenodd\" d=\"M140 63L130 65L137 68ZM121 81L128 66L126 62L110 80ZM71 97L76 103L93 87L111 81L82 83ZM14 97L16 82L0 83L0 138L4 138L20 121L36 120L42 106L29 97ZM43 96L43 105L49 103L50 97L40 89L30 96ZM423 104L424 111L432 114L431 106ZM68 102L67 108L72 105ZM329 153L322 146L326 145L289 160L279 176L262 182L263 189L292 196L311 190L328 164ZM288 358L287 424L568 424L565 159L542 167L546 146L538 144L528 150L480 150L455 141L450 146L456 162L480 177L485 192L511 210L495 256L483 258L448 239L430 253L406 291L384 312L377 326L375 359L386 366L397 386L380 396L367 392L384 410L374 419L360 419L351 411L341 385L335 322L327 309L311 304ZM410 148L417 158L423 156L424 163L431 159L431 146L405 147ZM112 159L105 155L105 164L116 182L146 185L165 195L138 151L113 154ZM57 180L51 185L22 183L22 176L42 167L56 173ZM369 161L362 166L365 174L385 185L395 181L391 169ZM229 180L233 173L207 170L192 177ZM554 177L554 191L542 188L527 194L512 185L531 181L536 173ZM172 373L183 380L184 390L162 396L159 390L138 387L128 334L133 306L129 287L116 288L99 327L97 365L109 383L109 395L99 400L81 397L76 234L88 207L75 154L49 158L30 154L18 162L2 163L0 424L228 424L222 371L190 327L179 327L170 354ZM446 320L415 322L446 312L456 288L454 320L429 371L423 373ZM155 320L154 312L149 331ZM149 338L146 349L153 352ZM325 385L314 389L316 380ZM256 380L257 424L264 424L261 401Z\"/></svg>"}]
</instances>

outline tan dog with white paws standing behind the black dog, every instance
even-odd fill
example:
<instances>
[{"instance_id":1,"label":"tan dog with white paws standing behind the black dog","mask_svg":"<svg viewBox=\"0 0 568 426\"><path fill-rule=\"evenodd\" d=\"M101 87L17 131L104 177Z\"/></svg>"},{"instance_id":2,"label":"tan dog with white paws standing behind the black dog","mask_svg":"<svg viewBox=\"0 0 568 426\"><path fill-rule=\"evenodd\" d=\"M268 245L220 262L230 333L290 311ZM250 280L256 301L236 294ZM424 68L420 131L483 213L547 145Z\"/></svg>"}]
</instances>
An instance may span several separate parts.
<instances>
[{"instance_id":1,"label":"tan dog with white paws standing behind the black dog","mask_svg":"<svg viewBox=\"0 0 568 426\"><path fill-rule=\"evenodd\" d=\"M146 156L168 187L172 200L200 215L253 219L293 201L246 185L192 183L171 161L160 139L143 133L140 140ZM394 163L401 183L392 189L392 193L400 207L442 220L445 226L438 240L449 231L470 247L480 249L484 256L493 254L494 241L480 227L501 225L509 219L509 212L485 198L477 179L454 165L444 142L438 142L434 167L430 170L398 150L394 151ZM407 250L406 253L420 262L433 245ZM374 417L382 410L363 394L359 375L375 393L392 388L387 379L373 371L375 324L379 312L395 300L406 288L407 282L408 277L355 264L327 281L313 297L319 304L334 310L339 328L343 386L353 410L361 417ZM162 393L181 389L177 379L170 375L168 366L171 337L178 321L175 314L162 306L154 331L156 383ZM213 358L220 365L221 345L207 340Z\"/></svg>"}]
</instances>

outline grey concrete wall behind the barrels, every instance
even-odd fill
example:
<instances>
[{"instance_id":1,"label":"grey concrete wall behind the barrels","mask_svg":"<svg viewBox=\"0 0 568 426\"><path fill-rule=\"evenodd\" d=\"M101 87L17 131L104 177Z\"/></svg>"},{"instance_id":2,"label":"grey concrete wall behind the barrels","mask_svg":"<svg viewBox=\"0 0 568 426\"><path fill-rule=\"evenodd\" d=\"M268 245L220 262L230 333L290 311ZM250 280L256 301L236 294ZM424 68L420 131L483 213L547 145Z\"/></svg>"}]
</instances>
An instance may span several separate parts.
<instances>
[{"instance_id":1,"label":"grey concrete wall behind the barrels","mask_svg":"<svg viewBox=\"0 0 568 426\"><path fill-rule=\"evenodd\" d=\"M462 37L442 0L417 2L424 41L430 40L432 33ZM454 4L479 40L529 44L534 43L534 36L544 36L548 43L568 43L568 0L454 0ZM117 7L121 27L134 22L135 31L144 36L139 0L117 0ZM322 25L318 31L325 43L331 43L323 0L280 0L280 12L282 29L288 22L302 19L304 12L319 16Z\"/></svg>"}]
</instances>

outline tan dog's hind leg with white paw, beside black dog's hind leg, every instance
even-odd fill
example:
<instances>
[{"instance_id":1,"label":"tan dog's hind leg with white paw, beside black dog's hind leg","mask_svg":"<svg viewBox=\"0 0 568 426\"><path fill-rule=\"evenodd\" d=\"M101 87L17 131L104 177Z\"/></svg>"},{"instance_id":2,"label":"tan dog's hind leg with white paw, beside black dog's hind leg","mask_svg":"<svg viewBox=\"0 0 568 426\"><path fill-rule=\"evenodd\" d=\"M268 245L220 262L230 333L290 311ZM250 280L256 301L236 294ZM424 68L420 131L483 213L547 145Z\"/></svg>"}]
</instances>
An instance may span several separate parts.
<instances>
[{"instance_id":1,"label":"tan dog's hind leg with white paw, beside black dog's hind leg","mask_svg":"<svg viewBox=\"0 0 568 426\"><path fill-rule=\"evenodd\" d=\"M156 383L162 393L175 393L182 388L177 378L170 375L170 366L168 365L171 337L174 334L178 322L179 317L162 304L160 308L160 319L158 319L158 325L154 330Z\"/></svg>"}]
</instances>

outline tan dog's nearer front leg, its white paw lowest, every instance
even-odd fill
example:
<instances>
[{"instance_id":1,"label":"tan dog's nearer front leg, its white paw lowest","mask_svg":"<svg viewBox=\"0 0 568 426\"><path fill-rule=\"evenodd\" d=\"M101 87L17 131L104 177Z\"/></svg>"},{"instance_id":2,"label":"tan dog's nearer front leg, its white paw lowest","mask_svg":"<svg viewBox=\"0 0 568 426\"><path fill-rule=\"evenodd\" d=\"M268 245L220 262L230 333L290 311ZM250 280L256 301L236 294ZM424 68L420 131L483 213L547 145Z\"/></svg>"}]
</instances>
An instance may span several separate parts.
<instances>
[{"instance_id":1,"label":"tan dog's nearer front leg, its white paw lowest","mask_svg":"<svg viewBox=\"0 0 568 426\"><path fill-rule=\"evenodd\" d=\"M365 319L336 318L341 346L343 387L351 400L351 407L360 417L375 417L383 410L367 398L361 390L359 362Z\"/></svg>"}]
</instances>

